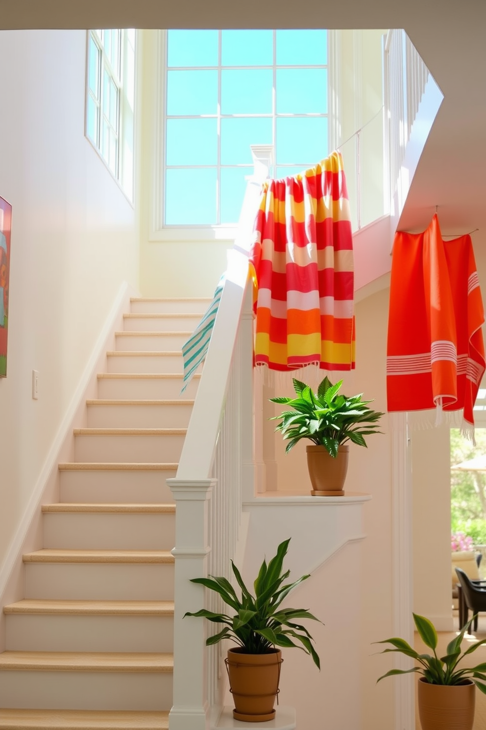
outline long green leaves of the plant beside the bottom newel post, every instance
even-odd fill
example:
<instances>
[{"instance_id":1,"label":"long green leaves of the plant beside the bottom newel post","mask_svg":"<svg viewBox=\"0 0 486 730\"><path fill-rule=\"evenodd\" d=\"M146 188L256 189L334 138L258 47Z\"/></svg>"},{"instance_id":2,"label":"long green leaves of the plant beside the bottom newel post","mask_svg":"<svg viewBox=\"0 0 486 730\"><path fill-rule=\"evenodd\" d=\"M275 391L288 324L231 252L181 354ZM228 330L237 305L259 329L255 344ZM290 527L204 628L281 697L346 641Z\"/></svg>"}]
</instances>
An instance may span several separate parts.
<instances>
[{"instance_id":1,"label":"long green leaves of the plant beside the bottom newel post","mask_svg":"<svg viewBox=\"0 0 486 730\"><path fill-rule=\"evenodd\" d=\"M282 585L289 577L290 571L282 573L283 558L286 556L290 538L278 545L277 554L267 565L263 561L258 577L254 582L255 595L252 595L243 583L238 568L231 561L232 571L241 588L241 597L238 597L230 581L224 577L210 576L208 578L192 578L192 583L200 583L210 591L219 593L223 601L235 613L230 616L224 613L214 613L201 609L195 613L187 612L186 616L200 616L213 623L225 624L224 629L206 639L206 644L217 644L222 639L232 639L247 654L265 654L275 646L297 647L309 654L314 664L321 669L318 654L315 652L313 637L305 626L295 623L296 619L311 618L319 621L309 611L302 608L281 608L281 603L290 591L309 575L302 575L294 583ZM322 623L321 621L319 623ZM297 639L299 644L294 643Z\"/></svg>"}]
</instances>

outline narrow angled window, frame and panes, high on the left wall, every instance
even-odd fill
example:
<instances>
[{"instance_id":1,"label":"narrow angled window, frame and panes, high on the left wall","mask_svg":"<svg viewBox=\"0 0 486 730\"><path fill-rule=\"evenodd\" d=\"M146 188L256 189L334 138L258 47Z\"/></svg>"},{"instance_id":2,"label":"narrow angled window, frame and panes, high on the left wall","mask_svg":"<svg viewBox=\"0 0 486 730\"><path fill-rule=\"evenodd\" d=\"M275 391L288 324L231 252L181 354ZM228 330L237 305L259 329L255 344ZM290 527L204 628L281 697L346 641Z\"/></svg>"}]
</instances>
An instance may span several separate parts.
<instances>
[{"instance_id":1,"label":"narrow angled window, frame and panes, high on the left wall","mask_svg":"<svg viewBox=\"0 0 486 730\"><path fill-rule=\"evenodd\" d=\"M133 28L88 31L86 136L133 197Z\"/></svg>"}]
</instances>

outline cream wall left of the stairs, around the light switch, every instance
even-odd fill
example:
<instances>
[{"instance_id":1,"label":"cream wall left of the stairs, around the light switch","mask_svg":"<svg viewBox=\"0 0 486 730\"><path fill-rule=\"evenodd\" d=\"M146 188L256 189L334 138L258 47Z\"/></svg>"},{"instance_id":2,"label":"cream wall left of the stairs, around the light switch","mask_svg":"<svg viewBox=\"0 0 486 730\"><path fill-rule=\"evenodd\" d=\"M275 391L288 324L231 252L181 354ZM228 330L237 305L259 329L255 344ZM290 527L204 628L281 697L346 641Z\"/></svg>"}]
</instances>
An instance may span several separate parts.
<instances>
[{"instance_id":1,"label":"cream wall left of the stairs, around the light switch","mask_svg":"<svg viewBox=\"0 0 486 730\"><path fill-rule=\"evenodd\" d=\"M0 569L115 296L123 280L138 287L133 207L84 136L85 53L86 31L0 32L0 195L13 207Z\"/></svg>"}]
</instances>

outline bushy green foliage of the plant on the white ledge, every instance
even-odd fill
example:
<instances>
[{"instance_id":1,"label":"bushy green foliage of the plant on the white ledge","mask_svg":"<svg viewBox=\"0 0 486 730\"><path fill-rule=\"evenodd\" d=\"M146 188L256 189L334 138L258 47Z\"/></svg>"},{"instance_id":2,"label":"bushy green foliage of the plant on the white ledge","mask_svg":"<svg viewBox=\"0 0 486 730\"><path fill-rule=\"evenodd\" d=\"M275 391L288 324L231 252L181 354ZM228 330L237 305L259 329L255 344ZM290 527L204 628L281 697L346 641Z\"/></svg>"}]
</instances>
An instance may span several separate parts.
<instances>
[{"instance_id":1,"label":"bushy green foliage of the plant on the white ledge","mask_svg":"<svg viewBox=\"0 0 486 730\"><path fill-rule=\"evenodd\" d=\"M341 444L352 441L358 446L367 445L364 440L369 434L379 434L377 421L382 412L371 410L368 404L357 396L340 394L342 380L332 385L329 377L325 377L315 393L309 385L294 380L297 398L270 398L273 403L290 406L293 410L284 410L281 415L270 420L281 419L275 431L281 431L289 453L300 439L309 439L316 445L326 448L334 458Z\"/></svg>"}]
</instances>

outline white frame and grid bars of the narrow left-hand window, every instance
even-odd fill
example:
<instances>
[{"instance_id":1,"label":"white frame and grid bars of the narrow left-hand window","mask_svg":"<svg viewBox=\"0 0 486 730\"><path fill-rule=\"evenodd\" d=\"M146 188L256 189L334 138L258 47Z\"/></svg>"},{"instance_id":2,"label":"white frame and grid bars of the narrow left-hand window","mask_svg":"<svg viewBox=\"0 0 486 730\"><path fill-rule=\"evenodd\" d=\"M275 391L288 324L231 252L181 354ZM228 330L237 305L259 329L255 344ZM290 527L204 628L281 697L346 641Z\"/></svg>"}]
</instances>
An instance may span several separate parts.
<instances>
[{"instance_id":1,"label":"white frame and grid bars of the narrow left-hand window","mask_svg":"<svg viewBox=\"0 0 486 730\"><path fill-rule=\"evenodd\" d=\"M137 31L126 28L119 30L119 69L111 66L106 50L103 46L101 33L98 29L87 31L86 50L86 103L85 103L85 137L93 146L99 157L109 170L111 176L116 180L125 196L131 204L134 198L134 147L135 147L135 107L136 107L136 53L137 53ZM133 42L130 42L130 34ZM93 39L100 54L98 68L99 98L96 98L90 90L90 39ZM130 51L131 47L131 51ZM130 51L130 52L129 52ZM133 67L129 68L130 57L133 58ZM116 134L117 150L114 166L110 164L109 149L103 147L103 99L104 99L104 71L109 74L110 79L117 88L117 128L111 124L111 131ZM129 88L129 77L132 77L133 88ZM131 97L131 98L130 98ZM88 130L88 100L93 99L98 107L98 125L95 130L95 137L90 136Z\"/></svg>"}]
</instances>

